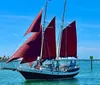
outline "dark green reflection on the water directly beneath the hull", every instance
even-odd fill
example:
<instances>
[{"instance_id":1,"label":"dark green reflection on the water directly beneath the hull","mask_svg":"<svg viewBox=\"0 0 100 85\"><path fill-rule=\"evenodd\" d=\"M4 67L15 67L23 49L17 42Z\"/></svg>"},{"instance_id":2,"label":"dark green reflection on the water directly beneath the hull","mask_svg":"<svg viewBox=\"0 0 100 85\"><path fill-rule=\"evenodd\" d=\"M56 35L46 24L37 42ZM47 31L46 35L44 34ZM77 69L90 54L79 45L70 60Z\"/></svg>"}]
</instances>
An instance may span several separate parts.
<instances>
[{"instance_id":1,"label":"dark green reflection on the water directly beneath the hull","mask_svg":"<svg viewBox=\"0 0 100 85\"><path fill-rule=\"evenodd\" d=\"M27 80L25 85L80 85L77 78L57 80Z\"/></svg>"}]
</instances>

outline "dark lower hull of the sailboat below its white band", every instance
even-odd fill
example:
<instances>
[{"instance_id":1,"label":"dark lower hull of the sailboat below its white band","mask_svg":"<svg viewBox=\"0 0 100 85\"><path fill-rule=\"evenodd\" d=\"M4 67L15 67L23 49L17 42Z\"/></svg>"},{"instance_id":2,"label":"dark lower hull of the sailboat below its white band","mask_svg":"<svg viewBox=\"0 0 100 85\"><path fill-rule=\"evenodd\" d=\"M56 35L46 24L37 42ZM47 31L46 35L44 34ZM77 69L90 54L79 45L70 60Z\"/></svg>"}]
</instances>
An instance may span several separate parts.
<instances>
[{"instance_id":1,"label":"dark lower hull of the sailboat below its white band","mask_svg":"<svg viewBox=\"0 0 100 85\"><path fill-rule=\"evenodd\" d=\"M78 74L70 74L70 75L49 75L49 74L41 74L41 73L32 73L32 72L25 72L19 71L25 79L61 79L61 78L73 78Z\"/></svg>"}]
</instances>

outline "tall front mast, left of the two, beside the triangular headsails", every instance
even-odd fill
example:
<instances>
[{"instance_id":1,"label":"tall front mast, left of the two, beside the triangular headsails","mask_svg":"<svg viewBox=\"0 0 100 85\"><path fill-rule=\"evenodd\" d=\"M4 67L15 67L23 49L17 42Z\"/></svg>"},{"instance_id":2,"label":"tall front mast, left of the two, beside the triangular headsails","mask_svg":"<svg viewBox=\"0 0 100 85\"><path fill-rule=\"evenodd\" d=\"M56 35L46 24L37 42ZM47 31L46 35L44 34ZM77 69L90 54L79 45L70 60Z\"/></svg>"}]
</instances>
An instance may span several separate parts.
<instances>
[{"instance_id":1,"label":"tall front mast, left of the two, beside the triangular headsails","mask_svg":"<svg viewBox=\"0 0 100 85\"><path fill-rule=\"evenodd\" d=\"M42 58L42 49L43 49L43 41L44 41L44 30L45 30L45 23L46 23L47 7L48 7L48 0L46 0L45 11L44 11L44 21L43 21L43 30L42 30L42 44L41 44L41 54L40 54L40 57L39 57L39 63L41 62L41 58Z\"/></svg>"}]
</instances>

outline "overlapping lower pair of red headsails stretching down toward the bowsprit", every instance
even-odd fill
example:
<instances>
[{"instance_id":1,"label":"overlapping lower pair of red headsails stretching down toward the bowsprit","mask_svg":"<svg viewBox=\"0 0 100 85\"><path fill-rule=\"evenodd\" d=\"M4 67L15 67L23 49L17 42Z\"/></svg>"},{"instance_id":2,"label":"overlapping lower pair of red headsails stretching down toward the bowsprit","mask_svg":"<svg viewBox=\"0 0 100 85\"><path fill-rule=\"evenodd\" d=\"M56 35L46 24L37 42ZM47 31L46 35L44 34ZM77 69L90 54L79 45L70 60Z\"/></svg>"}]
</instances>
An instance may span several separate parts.
<instances>
[{"instance_id":1,"label":"overlapping lower pair of red headsails stretching down toward the bowsprit","mask_svg":"<svg viewBox=\"0 0 100 85\"><path fill-rule=\"evenodd\" d=\"M21 63L32 62L40 56L41 52L41 38L42 38L42 26L40 32L35 32L7 61L11 62L19 58L23 58Z\"/></svg>"}]
</instances>

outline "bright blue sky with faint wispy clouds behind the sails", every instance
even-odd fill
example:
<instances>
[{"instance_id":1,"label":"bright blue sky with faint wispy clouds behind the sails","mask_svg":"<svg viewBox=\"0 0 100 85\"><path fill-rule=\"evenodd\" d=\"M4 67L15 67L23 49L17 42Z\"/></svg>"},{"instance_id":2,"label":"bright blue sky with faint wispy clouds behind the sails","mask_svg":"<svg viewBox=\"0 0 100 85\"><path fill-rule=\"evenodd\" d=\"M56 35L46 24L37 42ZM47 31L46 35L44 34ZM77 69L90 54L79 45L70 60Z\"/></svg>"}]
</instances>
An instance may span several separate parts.
<instances>
[{"instance_id":1,"label":"bright blue sky with faint wispy clouds behind the sails","mask_svg":"<svg viewBox=\"0 0 100 85\"><path fill-rule=\"evenodd\" d=\"M0 56L11 56L23 40L28 29L46 0L0 0ZM59 33L64 0L51 0L48 4L49 22L56 16ZM76 20L78 56L90 55L100 59L100 0L67 0L64 26Z\"/></svg>"}]
</instances>

